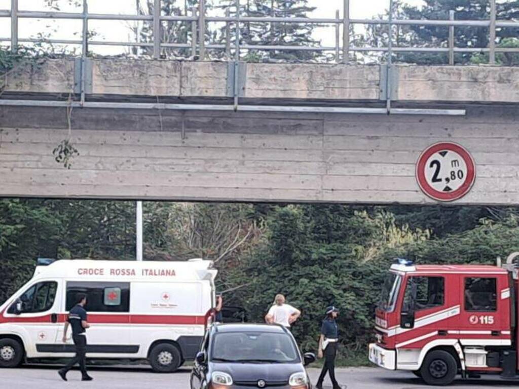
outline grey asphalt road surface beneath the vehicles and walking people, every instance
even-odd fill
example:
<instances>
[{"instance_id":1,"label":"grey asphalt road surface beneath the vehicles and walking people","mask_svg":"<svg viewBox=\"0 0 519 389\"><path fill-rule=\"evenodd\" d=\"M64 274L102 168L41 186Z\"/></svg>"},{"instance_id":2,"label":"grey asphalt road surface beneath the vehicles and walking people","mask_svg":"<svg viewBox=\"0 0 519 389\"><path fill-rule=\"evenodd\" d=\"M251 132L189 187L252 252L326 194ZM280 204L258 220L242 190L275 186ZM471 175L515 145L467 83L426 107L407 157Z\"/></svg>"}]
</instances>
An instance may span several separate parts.
<instances>
[{"instance_id":1,"label":"grey asphalt road surface beneath the vehicles and walking people","mask_svg":"<svg viewBox=\"0 0 519 389\"><path fill-rule=\"evenodd\" d=\"M26 366L18 369L0 370L0 384L6 389L60 389L60 388L102 388L102 389L189 389L189 369L183 368L173 374L157 374L144 367L96 367L90 369L94 381L80 382L77 370L69 372L69 381L63 382L52 366ZM315 382L319 370L310 369ZM378 368L345 368L337 370L337 378L347 389L415 389L428 387L412 373L386 371ZM456 381L451 387L512 388L519 381L502 381L488 376L479 380ZM326 382L325 382L326 387ZM331 388L331 386L327 386Z\"/></svg>"}]
</instances>

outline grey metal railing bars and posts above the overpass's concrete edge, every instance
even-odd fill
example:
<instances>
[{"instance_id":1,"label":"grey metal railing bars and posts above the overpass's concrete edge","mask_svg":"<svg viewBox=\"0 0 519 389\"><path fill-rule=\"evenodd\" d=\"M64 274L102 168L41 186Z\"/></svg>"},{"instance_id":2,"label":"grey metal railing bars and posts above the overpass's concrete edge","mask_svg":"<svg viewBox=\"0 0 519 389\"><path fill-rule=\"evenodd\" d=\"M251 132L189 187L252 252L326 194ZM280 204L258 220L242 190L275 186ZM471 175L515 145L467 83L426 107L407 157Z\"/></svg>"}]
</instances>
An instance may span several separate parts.
<instances>
[{"instance_id":1,"label":"grey metal railing bars and posts above the overpass's concrete edge","mask_svg":"<svg viewBox=\"0 0 519 389\"><path fill-rule=\"evenodd\" d=\"M485 52L489 53L489 63L496 63L497 52L519 52L519 48L499 48L496 47L496 30L502 27L519 28L519 21L502 21L496 20L496 0L489 0L490 3L490 19L489 20L455 20L455 11L449 12L448 20L402 20L393 19L392 12L389 13L389 19L351 19L350 18L350 0L343 0L343 17L339 17L339 11L336 11L335 18L280 18L280 17L248 17L240 15L240 1L236 0L237 12L236 16L231 17L227 9L224 17L206 16L206 0L199 0L198 10L192 10L192 16L165 16L160 14L161 0L154 0L153 15L110 15L88 12L88 0L83 0L83 12L54 12L54 11L23 11L18 9L18 0L11 0L10 10L0 10L0 17L11 19L11 36L9 38L0 38L0 41L10 41L11 49L16 50L20 43L39 43L42 39L18 37L18 21L21 18L37 18L37 19L80 19L83 20L83 36L79 40L74 39L44 39L46 43L53 44L77 44L83 47L83 55L87 54L89 45L100 46L130 46L130 47L153 47L153 57L160 58L163 48L187 48L190 49L192 55L199 55L200 58L206 58L208 49L225 50L228 58L231 58L231 34L230 25L232 23L239 24L245 22L255 23L311 23L311 24L329 24L335 25L335 46L279 46L279 45L244 45L240 43L239 36L235 36L235 60L240 59L242 50L301 50L301 51L333 51L335 52L335 61L348 63L350 52L385 52L388 53L388 62L391 61L393 53L399 52L435 52L448 53L449 64L454 64L454 53L457 52ZM390 10L393 9L393 0L390 0ZM153 24L153 41L151 42L122 42L122 41L103 41L93 40L89 38L88 22L89 20L127 20L127 21L149 21ZM170 22L191 22L192 42L189 43L168 43L160 40L161 23L163 21ZM226 42L225 44L207 44L206 43L206 24L208 22L225 22L226 23ZM351 44L350 25L351 24L380 24L388 27L388 45L387 47L358 47ZM424 25L424 26L445 26L448 27L448 47L398 47L393 43L392 27L399 25ZM472 27L488 27L489 29L489 46L488 47L455 47L455 27L472 26ZM340 29L343 30L343 41L340 43ZM240 29L235 29L235 34L239 35ZM155 37L159 37L156 39Z\"/></svg>"}]
</instances>

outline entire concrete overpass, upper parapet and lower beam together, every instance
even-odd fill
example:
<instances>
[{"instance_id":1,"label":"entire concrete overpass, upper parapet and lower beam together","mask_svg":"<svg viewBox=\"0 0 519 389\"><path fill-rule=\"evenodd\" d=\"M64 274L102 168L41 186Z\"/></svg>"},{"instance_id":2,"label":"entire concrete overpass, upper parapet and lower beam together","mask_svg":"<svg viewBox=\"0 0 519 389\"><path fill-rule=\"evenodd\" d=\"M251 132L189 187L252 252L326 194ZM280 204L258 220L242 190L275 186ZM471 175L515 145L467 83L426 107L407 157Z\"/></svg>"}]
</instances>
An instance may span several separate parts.
<instances>
[{"instance_id":1,"label":"entire concrete overpass, upper parapet and lower beam together","mask_svg":"<svg viewBox=\"0 0 519 389\"><path fill-rule=\"evenodd\" d=\"M456 203L519 204L519 68L389 76L384 65L28 65L3 81L0 196L428 204L416 163L449 141L477 171ZM53 150L69 139L79 155L65 169Z\"/></svg>"}]
</instances>

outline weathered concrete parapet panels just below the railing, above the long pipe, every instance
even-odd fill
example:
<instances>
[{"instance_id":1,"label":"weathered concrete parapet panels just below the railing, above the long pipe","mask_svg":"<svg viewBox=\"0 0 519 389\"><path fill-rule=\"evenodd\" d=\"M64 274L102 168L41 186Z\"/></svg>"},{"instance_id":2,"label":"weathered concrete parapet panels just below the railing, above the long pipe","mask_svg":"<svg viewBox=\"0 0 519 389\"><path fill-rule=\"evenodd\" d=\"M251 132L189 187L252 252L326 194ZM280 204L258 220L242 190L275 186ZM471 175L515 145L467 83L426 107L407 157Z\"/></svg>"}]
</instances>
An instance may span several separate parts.
<instances>
[{"instance_id":1,"label":"weathered concrete parapet panels just below the railing, above the long pipe","mask_svg":"<svg viewBox=\"0 0 519 389\"><path fill-rule=\"evenodd\" d=\"M87 59L86 93L95 95L230 97L227 62ZM19 66L0 80L5 92L76 93L80 61L49 59ZM387 73L378 65L262 64L240 66L240 95L251 99L378 101ZM519 68L504 66L393 66L392 99L407 102L519 103Z\"/></svg>"}]
</instances>

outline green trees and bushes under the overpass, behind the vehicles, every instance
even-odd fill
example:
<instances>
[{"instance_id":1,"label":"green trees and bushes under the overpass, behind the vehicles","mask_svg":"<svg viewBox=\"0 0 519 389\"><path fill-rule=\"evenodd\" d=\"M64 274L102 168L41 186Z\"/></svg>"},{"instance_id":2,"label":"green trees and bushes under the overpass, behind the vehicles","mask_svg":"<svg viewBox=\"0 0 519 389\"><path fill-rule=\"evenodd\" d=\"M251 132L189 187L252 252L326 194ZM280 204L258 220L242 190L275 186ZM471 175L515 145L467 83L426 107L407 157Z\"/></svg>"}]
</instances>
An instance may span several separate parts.
<instances>
[{"instance_id":1,"label":"green trees and bushes under the overpass, behind the vehicles","mask_svg":"<svg viewBox=\"0 0 519 389\"><path fill-rule=\"evenodd\" d=\"M341 310L345 356L371 341L380 285L394 257L495 263L519 249L513 207L324 204L144 204L146 260L212 259L225 303L262 321L277 293L303 311L294 335L315 350L326 305ZM36 257L132 260L135 204L0 201L0 301L28 280Z\"/></svg>"}]
</instances>

